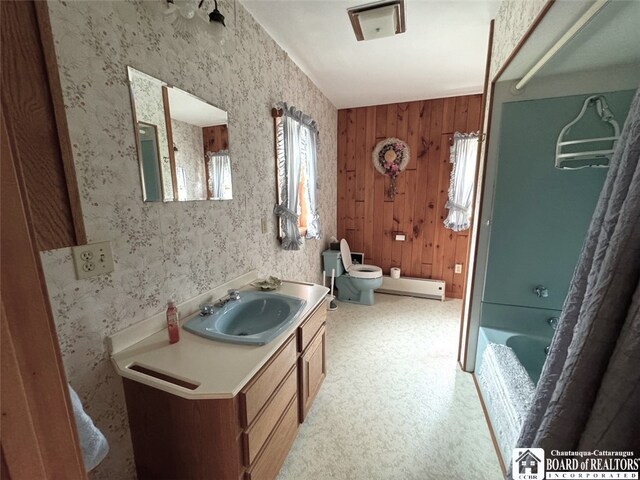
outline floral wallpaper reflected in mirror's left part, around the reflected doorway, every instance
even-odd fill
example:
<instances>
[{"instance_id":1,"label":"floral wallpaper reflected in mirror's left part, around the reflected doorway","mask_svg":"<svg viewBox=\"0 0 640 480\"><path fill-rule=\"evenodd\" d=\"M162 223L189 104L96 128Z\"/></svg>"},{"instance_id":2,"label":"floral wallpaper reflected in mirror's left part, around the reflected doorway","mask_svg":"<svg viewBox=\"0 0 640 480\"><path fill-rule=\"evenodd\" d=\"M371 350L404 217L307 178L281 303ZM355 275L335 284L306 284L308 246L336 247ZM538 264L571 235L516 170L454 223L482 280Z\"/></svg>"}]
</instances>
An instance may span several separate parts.
<instances>
[{"instance_id":1,"label":"floral wallpaper reflected in mirror's left part, around the reflected doorway","mask_svg":"<svg viewBox=\"0 0 640 480\"><path fill-rule=\"evenodd\" d=\"M162 82L137 70L130 70L131 91L135 101L136 119L155 125L158 134L158 151L162 169L162 188L165 200L173 200L171 184L171 162L169 161L169 140L162 101ZM133 108L133 107L132 107Z\"/></svg>"}]
</instances>

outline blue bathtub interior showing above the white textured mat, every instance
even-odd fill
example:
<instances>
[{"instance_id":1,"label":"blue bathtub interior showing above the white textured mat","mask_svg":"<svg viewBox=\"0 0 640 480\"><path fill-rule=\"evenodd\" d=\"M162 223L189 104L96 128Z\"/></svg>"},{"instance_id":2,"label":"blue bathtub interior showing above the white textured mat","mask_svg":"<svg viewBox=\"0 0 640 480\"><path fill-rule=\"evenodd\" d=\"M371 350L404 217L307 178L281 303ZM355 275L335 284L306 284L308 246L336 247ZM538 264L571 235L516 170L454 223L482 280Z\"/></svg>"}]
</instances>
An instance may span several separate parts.
<instances>
[{"instance_id":1,"label":"blue bathtub interior showing above the white textured mat","mask_svg":"<svg viewBox=\"0 0 640 480\"><path fill-rule=\"evenodd\" d=\"M478 351L476 370L482 363L484 349L489 343L499 343L511 347L522 363L534 384L538 383L542 366L547 359L546 347L551 344L551 337L522 334L497 328L480 327L478 335Z\"/></svg>"}]
</instances>

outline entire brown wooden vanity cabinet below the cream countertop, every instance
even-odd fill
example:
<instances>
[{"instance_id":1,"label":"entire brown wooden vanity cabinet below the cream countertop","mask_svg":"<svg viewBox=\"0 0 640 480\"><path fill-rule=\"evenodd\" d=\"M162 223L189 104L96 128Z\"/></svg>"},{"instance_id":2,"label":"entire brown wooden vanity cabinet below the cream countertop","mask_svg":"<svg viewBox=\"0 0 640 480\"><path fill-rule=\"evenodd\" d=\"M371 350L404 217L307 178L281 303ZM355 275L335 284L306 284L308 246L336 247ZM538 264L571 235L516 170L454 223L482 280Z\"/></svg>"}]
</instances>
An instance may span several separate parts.
<instances>
[{"instance_id":1,"label":"entire brown wooden vanity cabinet below the cream countertop","mask_svg":"<svg viewBox=\"0 0 640 480\"><path fill-rule=\"evenodd\" d=\"M325 308L233 398L189 400L124 378L138 478L274 480L326 376Z\"/></svg>"}]
</instances>

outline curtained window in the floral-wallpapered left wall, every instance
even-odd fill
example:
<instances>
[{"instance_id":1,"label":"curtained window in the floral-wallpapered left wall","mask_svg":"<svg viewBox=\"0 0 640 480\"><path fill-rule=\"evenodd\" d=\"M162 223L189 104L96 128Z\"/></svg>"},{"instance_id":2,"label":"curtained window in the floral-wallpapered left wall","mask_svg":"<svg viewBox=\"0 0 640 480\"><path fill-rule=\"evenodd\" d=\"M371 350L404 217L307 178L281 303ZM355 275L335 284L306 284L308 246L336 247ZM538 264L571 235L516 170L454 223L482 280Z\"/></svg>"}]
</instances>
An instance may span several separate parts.
<instances>
[{"instance_id":1,"label":"curtained window in the floral-wallpapered left wall","mask_svg":"<svg viewBox=\"0 0 640 480\"><path fill-rule=\"evenodd\" d=\"M278 195L275 214L280 217L284 250L299 250L303 238L320 238L317 202L316 122L294 107L281 103L274 109Z\"/></svg>"}]
</instances>

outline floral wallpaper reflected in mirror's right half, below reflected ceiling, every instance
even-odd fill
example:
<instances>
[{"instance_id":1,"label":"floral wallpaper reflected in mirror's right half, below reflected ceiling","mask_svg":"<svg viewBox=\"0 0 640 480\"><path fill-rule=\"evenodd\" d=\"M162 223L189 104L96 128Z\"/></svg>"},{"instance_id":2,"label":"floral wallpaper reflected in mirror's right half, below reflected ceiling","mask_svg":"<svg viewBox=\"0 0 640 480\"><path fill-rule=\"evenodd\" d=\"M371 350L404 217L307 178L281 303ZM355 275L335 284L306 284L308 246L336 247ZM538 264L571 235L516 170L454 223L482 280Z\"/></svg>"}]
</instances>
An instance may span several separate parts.
<instances>
[{"instance_id":1,"label":"floral wallpaper reflected in mirror's right half, below reflected ceiling","mask_svg":"<svg viewBox=\"0 0 640 480\"><path fill-rule=\"evenodd\" d=\"M207 198L207 178L205 172L204 140L202 127L171 119L173 143L177 147L176 169L178 171L178 198L198 200ZM182 195L181 173L184 169L185 185Z\"/></svg>"}]
</instances>

